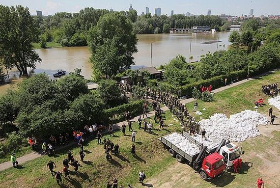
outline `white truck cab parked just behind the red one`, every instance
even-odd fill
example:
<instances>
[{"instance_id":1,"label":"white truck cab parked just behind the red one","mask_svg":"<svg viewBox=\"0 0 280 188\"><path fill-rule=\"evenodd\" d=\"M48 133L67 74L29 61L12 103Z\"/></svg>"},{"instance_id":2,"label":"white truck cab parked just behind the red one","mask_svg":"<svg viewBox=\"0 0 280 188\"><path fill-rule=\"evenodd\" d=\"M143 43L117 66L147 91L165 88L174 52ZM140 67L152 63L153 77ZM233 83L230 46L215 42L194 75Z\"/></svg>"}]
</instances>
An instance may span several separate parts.
<instances>
[{"instance_id":1,"label":"white truck cab parked just behind the red one","mask_svg":"<svg viewBox=\"0 0 280 188\"><path fill-rule=\"evenodd\" d=\"M225 162L227 168L232 168L233 161L240 157L241 149L233 143L229 143L220 148L219 154L223 156L223 161ZM244 153L244 152L243 152ZM243 154L242 153L242 154Z\"/></svg>"}]
</instances>

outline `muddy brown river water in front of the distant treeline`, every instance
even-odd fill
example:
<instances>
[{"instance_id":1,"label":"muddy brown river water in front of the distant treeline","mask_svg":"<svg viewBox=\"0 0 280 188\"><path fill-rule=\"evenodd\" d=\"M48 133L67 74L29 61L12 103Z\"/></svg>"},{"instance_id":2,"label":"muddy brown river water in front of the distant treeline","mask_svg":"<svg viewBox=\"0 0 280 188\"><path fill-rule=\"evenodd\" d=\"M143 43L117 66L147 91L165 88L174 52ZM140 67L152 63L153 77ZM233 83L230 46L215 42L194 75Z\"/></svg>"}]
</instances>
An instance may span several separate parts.
<instances>
[{"instance_id":1,"label":"muddy brown river water in front of the distant treeline","mask_svg":"<svg viewBox=\"0 0 280 188\"><path fill-rule=\"evenodd\" d=\"M134 55L135 65L132 69L154 66L158 67L168 63L172 58L181 54L187 61L199 61L201 55L218 50L228 49L230 43L228 37L231 32L211 33L172 33L172 34L144 34L137 35L138 52ZM221 42L212 44L202 44L219 40ZM190 52L191 41L191 52ZM152 59L151 59L152 43ZM38 63L35 73L45 72L50 78L58 69L66 70L67 73L75 68L80 68L82 75L90 79L92 75L92 65L89 62L91 53L88 47L62 47L49 49L36 49L42 63ZM192 56L193 59L189 60ZM19 72L14 69L9 71L10 78L18 79ZM0 86L0 93L7 90L7 86Z\"/></svg>"}]
</instances>

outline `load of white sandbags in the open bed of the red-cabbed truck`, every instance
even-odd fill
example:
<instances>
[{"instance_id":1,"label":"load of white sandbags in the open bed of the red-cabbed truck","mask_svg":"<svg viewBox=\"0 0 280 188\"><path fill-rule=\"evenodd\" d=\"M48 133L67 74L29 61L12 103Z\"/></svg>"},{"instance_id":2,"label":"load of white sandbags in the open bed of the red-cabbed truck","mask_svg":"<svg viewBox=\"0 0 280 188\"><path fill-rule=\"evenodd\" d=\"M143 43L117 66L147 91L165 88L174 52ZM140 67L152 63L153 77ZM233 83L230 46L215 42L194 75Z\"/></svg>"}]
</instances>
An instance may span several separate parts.
<instances>
[{"instance_id":1,"label":"load of white sandbags in the open bed of the red-cabbed truck","mask_svg":"<svg viewBox=\"0 0 280 188\"><path fill-rule=\"evenodd\" d=\"M177 132L167 135L164 138L189 155L195 155L200 152L197 145L191 143L188 139Z\"/></svg>"}]
</instances>

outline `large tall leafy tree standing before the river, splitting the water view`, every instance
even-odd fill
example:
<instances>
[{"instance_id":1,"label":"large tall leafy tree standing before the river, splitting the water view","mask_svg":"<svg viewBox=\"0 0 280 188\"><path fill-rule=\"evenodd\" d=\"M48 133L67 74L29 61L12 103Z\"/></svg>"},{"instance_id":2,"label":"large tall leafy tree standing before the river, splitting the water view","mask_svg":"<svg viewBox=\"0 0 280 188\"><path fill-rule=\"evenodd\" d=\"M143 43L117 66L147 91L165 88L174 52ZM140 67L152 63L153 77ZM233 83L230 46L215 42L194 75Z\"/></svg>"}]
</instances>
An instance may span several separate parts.
<instances>
[{"instance_id":1,"label":"large tall leafy tree standing before the river, splitting the water view","mask_svg":"<svg viewBox=\"0 0 280 188\"><path fill-rule=\"evenodd\" d=\"M113 46L110 46L110 43ZM134 64L132 55L137 52L136 43L137 39L136 35L132 32L131 22L121 13L102 16L97 25L90 30L88 38L88 44L92 52L91 60L94 63L96 63L95 60L100 59L105 49L110 49L109 52L111 55L114 55L114 59L122 59L122 61L118 61L118 64L114 66L113 71L110 71L112 73L123 68L128 69ZM110 61L103 61L103 66L106 66L107 62ZM97 69L104 74L104 70L100 69L100 67L102 66L98 66Z\"/></svg>"}]
</instances>

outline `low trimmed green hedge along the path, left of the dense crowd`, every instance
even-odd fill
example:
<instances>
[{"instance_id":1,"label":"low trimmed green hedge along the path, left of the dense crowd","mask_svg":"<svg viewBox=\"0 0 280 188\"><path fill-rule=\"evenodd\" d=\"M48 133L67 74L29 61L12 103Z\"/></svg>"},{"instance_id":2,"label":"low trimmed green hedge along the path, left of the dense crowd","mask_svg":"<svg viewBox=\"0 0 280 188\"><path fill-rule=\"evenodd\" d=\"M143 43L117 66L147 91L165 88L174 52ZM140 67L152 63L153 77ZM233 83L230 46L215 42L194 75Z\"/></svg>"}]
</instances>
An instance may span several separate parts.
<instances>
[{"instance_id":1,"label":"low trimmed green hedge along the path, left of the dense crowd","mask_svg":"<svg viewBox=\"0 0 280 188\"><path fill-rule=\"evenodd\" d=\"M116 116L124 116L124 113L129 111L131 116L137 115L137 113L142 112L144 100L135 100L127 104L119 105L111 109L105 110L105 116L107 119L114 119Z\"/></svg>"}]
</instances>

